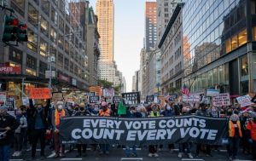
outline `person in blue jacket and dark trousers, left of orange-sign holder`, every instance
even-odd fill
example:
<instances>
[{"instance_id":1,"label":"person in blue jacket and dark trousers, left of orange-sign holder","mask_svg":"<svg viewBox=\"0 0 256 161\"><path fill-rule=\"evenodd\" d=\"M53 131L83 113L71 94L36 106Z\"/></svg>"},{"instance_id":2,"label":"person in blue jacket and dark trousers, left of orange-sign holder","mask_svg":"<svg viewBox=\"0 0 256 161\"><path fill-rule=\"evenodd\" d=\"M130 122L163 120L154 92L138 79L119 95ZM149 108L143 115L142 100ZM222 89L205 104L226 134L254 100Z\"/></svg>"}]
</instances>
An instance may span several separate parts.
<instances>
[{"instance_id":1,"label":"person in blue jacket and dark trousers, left of orange-sign holder","mask_svg":"<svg viewBox=\"0 0 256 161\"><path fill-rule=\"evenodd\" d=\"M20 126L15 129L15 153L12 156L20 157L23 144L23 134L21 129L26 129L27 127L26 117L22 115L22 112L20 110L16 111L16 121L20 123Z\"/></svg>"}]
</instances>

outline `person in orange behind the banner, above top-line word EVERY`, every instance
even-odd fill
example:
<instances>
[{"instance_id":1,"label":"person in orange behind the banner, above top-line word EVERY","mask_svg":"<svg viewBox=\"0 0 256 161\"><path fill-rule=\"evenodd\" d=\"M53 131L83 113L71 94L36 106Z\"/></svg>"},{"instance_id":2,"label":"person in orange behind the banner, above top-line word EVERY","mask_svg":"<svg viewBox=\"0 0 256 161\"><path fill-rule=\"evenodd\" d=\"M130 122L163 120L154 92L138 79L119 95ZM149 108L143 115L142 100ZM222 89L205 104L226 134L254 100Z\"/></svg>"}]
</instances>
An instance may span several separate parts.
<instances>
[{"instance_id":1,"label":"person in orange behind the banner, above top-line word EVERY","mask_svg":"<svg viewBox=\"0 0 256 161\"><path fill-rule=\"evenodd\" d=\"M100 117L110 117L111 111L108 108L108 103L106 101L102 101L102 109L99 111L99 116ZM106 153L107 155L109 154L109 144L101 144L101 152L100 154Z\"/></svg>"}]
</instances>

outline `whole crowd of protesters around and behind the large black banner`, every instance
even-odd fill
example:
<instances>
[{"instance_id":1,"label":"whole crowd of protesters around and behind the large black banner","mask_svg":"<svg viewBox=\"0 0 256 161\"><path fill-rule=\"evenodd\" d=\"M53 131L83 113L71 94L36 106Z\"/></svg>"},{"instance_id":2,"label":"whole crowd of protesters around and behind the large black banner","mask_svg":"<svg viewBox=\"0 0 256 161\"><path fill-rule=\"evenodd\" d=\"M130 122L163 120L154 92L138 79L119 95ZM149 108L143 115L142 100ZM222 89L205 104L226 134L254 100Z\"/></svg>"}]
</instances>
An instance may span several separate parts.
<instances>
[{"instance_id":1,"label":"whole crowd of protesters around and behind the large black banner","mask_svg":"<svg viewBox=\"0 0 256 161\"><path fill-rule=\"evenodd\" d=\"M6 106L0 107L0 160L8 161L9 152L13 148L13 157L20 157L23 152L31 151L32 159L36 158L37 145L40 142L40 158L45 158L45 146L49 145L55 150L55 158L65 157L65 146L61 144L60 119L63 117L99 116L99 117L123 117L123 118L155 118L155 117L177 117L182 115L198 115L203 117L214 117L212 112L219 112L221 118L227 118L228 134L227 142L222 145L227 150L230 160L237 158L237 152L241 148L244 154L251 154L256 160L256 106L222 106L215 107L204 103L194 105L166 101L166 106L159 104L140 104L138 106L127 106L125 115L118 116L118 104L110 104L102 101L100 104L68 105L50 100L42 104L33 104L30 100L29 106L20 106L15 112L15 117L7 112ZM108 155L112 145L91 145L99 154ZM86 144L70 145L68 148L78 149L77 157L86 156ZM120 146L125 148L126 157L137 157L137 145ZM148 157L158 157L158 152L163 145L149 145ZM186 154L189 158L196 158L200 152L212 157L212 150L218 150L218 146L207 144L196 144L184 142L180 144L169 144L168 148L178 148L178 158ZM195 147L195 154L191 152Z\"/></svg>"}]
</instances>

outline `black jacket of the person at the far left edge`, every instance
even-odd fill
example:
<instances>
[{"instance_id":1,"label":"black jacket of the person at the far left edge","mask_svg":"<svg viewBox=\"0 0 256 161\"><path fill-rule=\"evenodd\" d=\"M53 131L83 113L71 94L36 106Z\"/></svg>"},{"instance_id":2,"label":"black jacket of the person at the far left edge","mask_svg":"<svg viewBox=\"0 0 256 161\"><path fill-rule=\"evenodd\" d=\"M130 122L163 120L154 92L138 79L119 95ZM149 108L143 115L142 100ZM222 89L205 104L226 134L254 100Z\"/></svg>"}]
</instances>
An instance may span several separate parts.
<instances>
[{"instance_id":1,"label":"black jacket of the person at the far left edge","mask_svg":"<svg viewBox=\"0 0 256 161\"><path fill-rule=\"evenodd\" d=\"M6 133L7 135L3 139L0 139L0 146L9 145L14 141L15 129L17 129L19 125L19 122L8 113L6 113L4 116L0 116L0 133L5 131L4 129L6 127L10 127L11 129Z\"/></svg>"}]
</instances>

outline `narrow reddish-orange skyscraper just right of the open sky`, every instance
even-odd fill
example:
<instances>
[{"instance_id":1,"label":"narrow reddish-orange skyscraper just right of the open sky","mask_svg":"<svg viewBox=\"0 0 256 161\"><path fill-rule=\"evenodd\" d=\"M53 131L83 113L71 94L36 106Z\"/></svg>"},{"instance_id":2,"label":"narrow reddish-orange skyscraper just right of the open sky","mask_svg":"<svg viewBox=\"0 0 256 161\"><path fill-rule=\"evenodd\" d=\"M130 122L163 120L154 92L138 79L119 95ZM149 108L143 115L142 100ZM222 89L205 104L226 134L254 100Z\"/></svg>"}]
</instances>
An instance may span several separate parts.
<instances>
[{"instance_id":1,"label":"narrow reddish-orange skyscraper just right of the open sky","mask_svg":"<svg viewBox=\"0 0 256 161\"><path fill-rule=\"evenodd\" d=\"M145 48L154 49L156 42L156 2L146 2L145 9Z\"/></svg>"}]
</instances>

